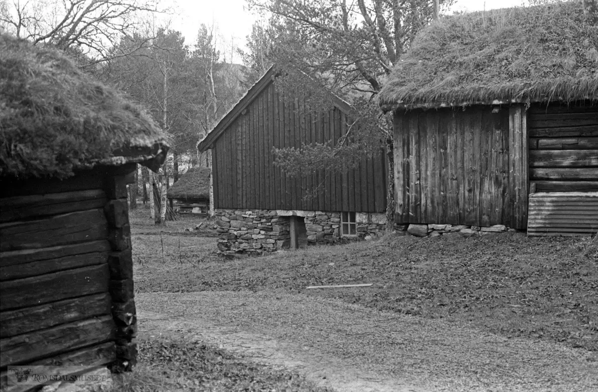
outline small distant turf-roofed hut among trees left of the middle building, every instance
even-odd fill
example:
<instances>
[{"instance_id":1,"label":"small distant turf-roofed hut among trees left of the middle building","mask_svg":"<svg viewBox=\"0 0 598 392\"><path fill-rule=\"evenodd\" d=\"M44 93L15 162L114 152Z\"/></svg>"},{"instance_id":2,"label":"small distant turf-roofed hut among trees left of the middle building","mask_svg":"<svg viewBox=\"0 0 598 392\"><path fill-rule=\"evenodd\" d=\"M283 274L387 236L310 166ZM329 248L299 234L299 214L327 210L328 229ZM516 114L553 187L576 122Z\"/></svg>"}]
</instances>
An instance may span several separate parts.
<instances>
[{"instance_id":1,"label":"small distant turf-roofed hut among trees left of the middle building","mask_svg":"<svg viewBox=\"0 0 598 392\"><path fill-rule=\"evenodd\" d=\"M174 211L180 214L208 214L210 173L210 168L190 168L172 184L167 197Z\"/></svg>"}]
</instances>

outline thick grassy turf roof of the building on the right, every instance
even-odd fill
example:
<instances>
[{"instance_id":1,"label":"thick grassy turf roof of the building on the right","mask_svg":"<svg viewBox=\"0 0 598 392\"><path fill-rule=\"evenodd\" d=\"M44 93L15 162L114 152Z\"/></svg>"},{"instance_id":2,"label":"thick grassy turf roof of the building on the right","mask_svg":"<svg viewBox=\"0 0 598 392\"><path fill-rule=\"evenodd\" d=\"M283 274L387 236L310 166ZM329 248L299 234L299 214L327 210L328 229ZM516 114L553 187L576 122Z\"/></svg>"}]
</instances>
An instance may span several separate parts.
<instances>
[{"instance_id":1,"label":"thick grassy turf roof of the building on the right","mask_svg":"<svg viewBox=\"0 0 598 392\"><path fill-rule=\"evenodd\" d=\"M598 101L597 45L581 1L444 17L417 35L379 102Z\"/></svg>"}]
</instances>

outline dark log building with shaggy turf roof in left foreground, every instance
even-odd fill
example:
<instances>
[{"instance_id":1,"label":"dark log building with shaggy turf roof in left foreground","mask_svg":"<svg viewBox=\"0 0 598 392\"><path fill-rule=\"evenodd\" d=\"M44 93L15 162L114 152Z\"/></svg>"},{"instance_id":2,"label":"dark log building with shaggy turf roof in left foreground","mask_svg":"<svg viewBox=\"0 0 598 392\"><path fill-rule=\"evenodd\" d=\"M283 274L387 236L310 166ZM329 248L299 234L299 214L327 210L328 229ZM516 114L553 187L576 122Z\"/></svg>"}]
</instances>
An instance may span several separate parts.
<instances>
[{"instance_id":1,"label":"dark log building with shaggy turf roof in left foreground","mask_svg":"<svg viewBox=\"0 0 598 392\"><path fill-rule=\"evenodd\" d=\"M127 183L167 144L151 118L50 48L0 35L0 372L136 362ZM64 374L62 374L64 375Z\"/></svg>"}]
</instances>

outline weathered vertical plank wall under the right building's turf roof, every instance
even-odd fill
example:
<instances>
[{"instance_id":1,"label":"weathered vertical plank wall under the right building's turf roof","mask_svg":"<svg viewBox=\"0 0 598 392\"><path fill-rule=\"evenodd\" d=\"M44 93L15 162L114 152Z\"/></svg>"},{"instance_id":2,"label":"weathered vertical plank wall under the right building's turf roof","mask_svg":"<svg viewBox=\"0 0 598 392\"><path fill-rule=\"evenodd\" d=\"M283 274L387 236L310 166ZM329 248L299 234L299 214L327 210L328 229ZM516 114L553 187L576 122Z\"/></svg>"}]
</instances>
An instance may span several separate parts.
<instances>
[{"instance_id":1,"label":"weathered vertical plank wall under the right building's turf roof","mask_svg":"<svg viewBox=\"0 0 598 392\"><path fill-rule=\"evenodd\" d=\"M396 222L524 229L525 124L520 106L395 113Z\"/></svg>"}]
</instances>

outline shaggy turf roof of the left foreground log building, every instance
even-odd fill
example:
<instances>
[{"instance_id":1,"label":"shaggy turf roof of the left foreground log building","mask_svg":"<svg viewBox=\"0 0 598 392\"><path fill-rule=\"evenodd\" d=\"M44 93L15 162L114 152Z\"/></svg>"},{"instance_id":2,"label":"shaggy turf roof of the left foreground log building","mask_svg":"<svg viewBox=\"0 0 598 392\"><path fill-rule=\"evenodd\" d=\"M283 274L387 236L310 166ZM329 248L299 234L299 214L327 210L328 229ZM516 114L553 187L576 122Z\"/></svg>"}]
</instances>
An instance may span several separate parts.
<instances>
[{"instance_id":1,"label":"shaggy turf roof of the left foreground log building","mask_svg":"<svg viewBox=\"0 0 598 392\"><path fill-rule=\"evenodd\" d=\"M151 117L62 52L0 34L0 53L0 177L163 161L168 146Z\"/></svg>"}]
</instances>

